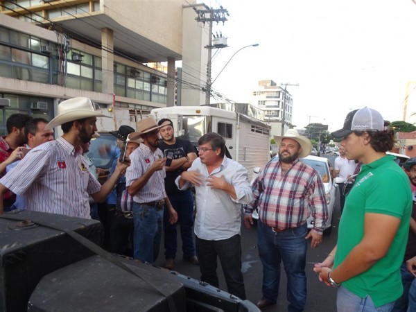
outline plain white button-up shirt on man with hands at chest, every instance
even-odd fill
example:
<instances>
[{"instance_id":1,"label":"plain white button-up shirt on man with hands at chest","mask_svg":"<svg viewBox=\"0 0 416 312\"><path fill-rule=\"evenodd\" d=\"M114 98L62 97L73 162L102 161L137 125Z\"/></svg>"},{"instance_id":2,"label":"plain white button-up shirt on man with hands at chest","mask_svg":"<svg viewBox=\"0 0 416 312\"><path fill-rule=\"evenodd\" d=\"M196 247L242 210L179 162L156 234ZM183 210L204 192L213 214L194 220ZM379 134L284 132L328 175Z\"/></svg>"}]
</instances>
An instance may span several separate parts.
<instances>
[{"instance_id":1,"label":"plain white button-up shirt on man with hands at chest","mask_svg":"<svg viewBox=\"0 0 416 312\"><path fill-rule=\"evenodd\" d=\"M247 170L238 162L224 157L218 168L208 173L207 166L197 158L193 161L188 171L202 173L205 180L196 191L196 218L194 230L199 239L219 241L229 239L240 234L241 205L249 204L252 200L252 189L247 180ZM224 175L225 181L232 184L236 191L236 200L220 189L211 189L207 186L207 177ZM179 187L180 177L175 180ZM181 190L191 187L186 182Z\"/></svg>"}]
</instances>

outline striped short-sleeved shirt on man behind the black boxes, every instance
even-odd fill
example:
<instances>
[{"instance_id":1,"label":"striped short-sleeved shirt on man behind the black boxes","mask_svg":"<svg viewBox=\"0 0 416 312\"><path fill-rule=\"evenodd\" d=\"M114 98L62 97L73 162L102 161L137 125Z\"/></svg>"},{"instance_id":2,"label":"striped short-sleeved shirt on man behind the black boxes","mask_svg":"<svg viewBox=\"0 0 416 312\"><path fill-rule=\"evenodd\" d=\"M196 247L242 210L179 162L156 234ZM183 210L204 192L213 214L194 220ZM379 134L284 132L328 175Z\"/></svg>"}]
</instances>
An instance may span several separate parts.
<instances>
[{"instance_id":1,"label":"striped short-sleeved shirt on man behind the black boxes","mask_svg":"<svg viewBox=\"0 0 416 312\"><path fill-rule=\"evenodd\" d=\"M33 148L0 183L25 194L28 210L87 219L88 194L101 189L89 172L83 149L62 137Z\"/></svg>"}]
</instances>

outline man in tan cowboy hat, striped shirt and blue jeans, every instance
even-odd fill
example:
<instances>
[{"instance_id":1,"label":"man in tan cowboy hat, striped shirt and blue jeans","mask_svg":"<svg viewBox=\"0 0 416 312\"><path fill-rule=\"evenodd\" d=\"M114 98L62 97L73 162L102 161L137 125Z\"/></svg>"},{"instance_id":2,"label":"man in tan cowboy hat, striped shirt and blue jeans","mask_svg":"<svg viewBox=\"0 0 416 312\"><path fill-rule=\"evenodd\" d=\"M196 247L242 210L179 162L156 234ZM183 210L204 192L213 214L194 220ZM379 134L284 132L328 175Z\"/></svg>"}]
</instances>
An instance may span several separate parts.
<instances>
[{"instance_id":1,"label":"man in tan cowboy hat, striped shirt and blue jeans","mask_svg":"<svg viewBox=\"0 0 416 312\"><path fill-rule=\"evenodd\" d=\"M164 178L166 157L159 146L159 128L155 119L148 117L137 123L137 132L130 139L139 137L143 143L130 154L131 165L125 175L128 193L133 196L133 220L135 223L134 258L153 263L159 254L162 236L164 205L170 214L169 221L177 221L177 213L166 196Z\"/></svg>"}]
</instances>

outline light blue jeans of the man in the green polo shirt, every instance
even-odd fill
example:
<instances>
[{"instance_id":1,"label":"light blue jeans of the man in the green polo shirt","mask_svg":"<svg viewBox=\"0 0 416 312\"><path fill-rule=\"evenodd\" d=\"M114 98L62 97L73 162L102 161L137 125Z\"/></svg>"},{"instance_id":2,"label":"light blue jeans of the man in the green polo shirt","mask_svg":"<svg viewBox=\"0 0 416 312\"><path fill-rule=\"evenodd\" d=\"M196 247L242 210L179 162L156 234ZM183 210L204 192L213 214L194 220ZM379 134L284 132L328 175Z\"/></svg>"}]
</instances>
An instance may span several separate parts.
<instances>
[{"instance_id":1,"label":"light blue jeans of the man in the green polo shirt","mask_svg":"<svg viewBox=\"0 0 416 312\"><path fill-rule=\"evenodd\" d=\"M336 309L338 312L390 312L394 305L395 302L393 301L376 308L369 295L365 298L358 297L347 291L343 286L338 288L336 295Z\"/></svg>"}]
</instances>

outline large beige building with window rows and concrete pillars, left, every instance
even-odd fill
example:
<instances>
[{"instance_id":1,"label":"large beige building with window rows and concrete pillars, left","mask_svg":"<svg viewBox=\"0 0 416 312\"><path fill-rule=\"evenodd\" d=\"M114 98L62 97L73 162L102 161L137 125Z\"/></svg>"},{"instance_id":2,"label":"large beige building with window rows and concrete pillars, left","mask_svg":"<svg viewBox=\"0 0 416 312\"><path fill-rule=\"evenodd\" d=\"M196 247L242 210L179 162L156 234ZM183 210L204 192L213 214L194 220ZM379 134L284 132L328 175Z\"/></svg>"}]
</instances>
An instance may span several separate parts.
<instances>
[{"instance_id":1,"label":"large beige building with window rows and concrete pillars, left","mask_svg":"<svg viewBox=\"0 0 416 312\"><path fill-rule=\"evenodd\" d=\"M0 134L10 114L52 119L58 103L75 96L92 98L109 116L124 108L130 121L174 105L175 61L185 55L200 68L206 60L193 9L201 5L189 3L0 0ZM166 62L167 73L146 66L153 62Z\"/></svg>"}]
</instances>

